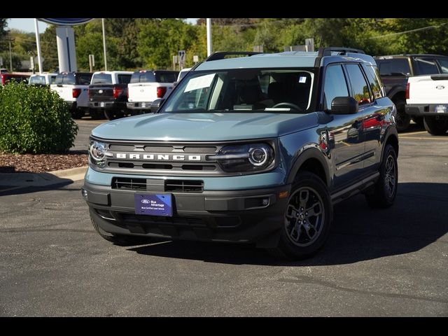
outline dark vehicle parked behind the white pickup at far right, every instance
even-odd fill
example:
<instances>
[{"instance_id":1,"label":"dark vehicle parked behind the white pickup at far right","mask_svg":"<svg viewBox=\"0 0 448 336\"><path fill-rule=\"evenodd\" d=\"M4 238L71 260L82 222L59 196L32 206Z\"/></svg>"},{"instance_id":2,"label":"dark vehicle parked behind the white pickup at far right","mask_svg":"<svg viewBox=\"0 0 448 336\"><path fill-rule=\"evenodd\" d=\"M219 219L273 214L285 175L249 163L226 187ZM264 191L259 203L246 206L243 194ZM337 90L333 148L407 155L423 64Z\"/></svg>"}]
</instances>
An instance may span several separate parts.
<instances>
[{"instance_id":1,"label":"dark vehicle parked behind the white pickup at far right","mask_svg":"<svg viewBox=\"0 0 448 336\"><path fill-rule=\"evenodd\" d=\"M397 130L402 132L409 127L411 119L423 125L423 118L406 111L406 85L409 76L448 73L448 57L430 54L402 54L374 57L378 64L381 80L387 97L397 108Z\"/></svg>"}]
</instances>

